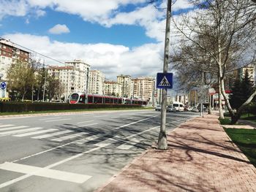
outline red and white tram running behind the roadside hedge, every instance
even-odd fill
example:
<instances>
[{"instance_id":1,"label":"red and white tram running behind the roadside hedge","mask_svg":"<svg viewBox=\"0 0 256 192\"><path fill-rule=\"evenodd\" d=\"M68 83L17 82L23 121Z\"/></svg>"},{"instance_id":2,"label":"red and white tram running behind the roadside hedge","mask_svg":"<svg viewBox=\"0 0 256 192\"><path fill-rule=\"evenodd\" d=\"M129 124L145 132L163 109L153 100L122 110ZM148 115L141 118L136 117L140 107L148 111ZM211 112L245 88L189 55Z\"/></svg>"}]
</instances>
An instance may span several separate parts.
<instances>
[{"instance_id":1,"label":"red and white tram running behind the roadside hedge","mask_svg":"<svg viewBox=\"0 0 256 192\"><path fill-rule=\"evenodd\" d=\"M127 99L116 96L102 96L97 94L72 93L69 104L138 104L146 105L148 101Z\"/></svg>"}]
</instances>

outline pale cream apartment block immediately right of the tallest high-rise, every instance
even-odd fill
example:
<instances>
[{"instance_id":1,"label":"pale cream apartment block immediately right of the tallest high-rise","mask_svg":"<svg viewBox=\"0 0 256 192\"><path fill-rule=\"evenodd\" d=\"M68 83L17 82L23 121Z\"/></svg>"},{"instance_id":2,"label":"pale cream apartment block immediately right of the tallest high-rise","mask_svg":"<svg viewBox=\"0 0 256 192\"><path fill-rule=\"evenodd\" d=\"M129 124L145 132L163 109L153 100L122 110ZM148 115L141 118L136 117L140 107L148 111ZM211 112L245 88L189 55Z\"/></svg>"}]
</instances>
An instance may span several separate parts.
<instances>
[{"instance_id":1,"label":"pale cream apartment block immediately right of the tallest high-rise","mask_svg":"<svg viewBox=\"0 0 256 192\"><path fill-rule=\"evenodd\" d=\"M105 75L99 70L91 70L89 72L89 93L104 94Z\"/></svg>"}]
</instances>

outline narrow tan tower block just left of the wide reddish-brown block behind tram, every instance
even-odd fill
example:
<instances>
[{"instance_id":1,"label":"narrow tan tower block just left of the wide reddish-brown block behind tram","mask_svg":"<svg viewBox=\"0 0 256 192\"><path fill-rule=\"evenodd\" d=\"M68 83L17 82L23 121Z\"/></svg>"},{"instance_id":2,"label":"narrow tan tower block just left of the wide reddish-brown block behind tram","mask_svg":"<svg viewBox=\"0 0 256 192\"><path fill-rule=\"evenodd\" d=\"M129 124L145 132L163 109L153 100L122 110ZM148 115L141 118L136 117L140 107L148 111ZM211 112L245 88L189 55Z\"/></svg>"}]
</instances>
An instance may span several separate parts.
<instances>
[{"instance_id":1,"label":"narrow tan tower block just left of the wide reddish-brown block behind tram","mask_svg":"<svg viewBox=\"0 0 256 192\"><path fill-rule=\"evenodd\" d=\"M117 76L117 82L121 84L121 96L130 98L132 96L132 77L120 74Z\"/></svg>"}]
</instances>

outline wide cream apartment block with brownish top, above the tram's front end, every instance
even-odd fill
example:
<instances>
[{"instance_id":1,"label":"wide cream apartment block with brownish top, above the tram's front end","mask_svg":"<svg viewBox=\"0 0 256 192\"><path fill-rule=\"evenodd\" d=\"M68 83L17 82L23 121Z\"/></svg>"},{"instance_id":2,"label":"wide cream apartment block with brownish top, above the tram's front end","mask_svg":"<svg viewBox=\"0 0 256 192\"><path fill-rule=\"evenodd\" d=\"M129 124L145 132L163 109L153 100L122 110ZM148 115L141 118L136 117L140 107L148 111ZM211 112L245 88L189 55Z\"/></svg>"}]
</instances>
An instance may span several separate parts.
<instances>
[{"instance_id":1,"label":"wide cream apartment block with brownish top, above the tram's front end","mask_svg":"<svg viewBox=\"0 0 256 192\"><path fill-rule=\"evenodd\" d=\"M48 74L56 77L61 82L64 93L63 96L68 99L69 95L74 92L84 91L86 88L86 73L75 66L49 66Z\"/></svg>"}]
</instances>

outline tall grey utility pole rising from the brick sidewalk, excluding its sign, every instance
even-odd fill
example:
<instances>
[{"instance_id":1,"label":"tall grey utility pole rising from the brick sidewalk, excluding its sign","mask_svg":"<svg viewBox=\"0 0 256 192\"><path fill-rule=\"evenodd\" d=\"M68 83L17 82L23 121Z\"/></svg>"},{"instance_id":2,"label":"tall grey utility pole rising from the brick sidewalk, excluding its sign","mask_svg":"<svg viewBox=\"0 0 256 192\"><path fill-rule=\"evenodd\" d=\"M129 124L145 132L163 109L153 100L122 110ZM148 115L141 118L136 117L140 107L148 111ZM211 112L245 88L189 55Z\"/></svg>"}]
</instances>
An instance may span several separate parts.
<instances>
[{"instance_id":1,"label":"tall grey utility pole rising from the brick sidewalk, excluding its sign","mask_svg":"<svg viewBox=\"0 0 256 192\"><path fill-rule=\"evenodd\" d=\"M168 71L169 61L169 47L170 47L170 17L171 17L171 4L172 0L167 0L167 12L166 12L166 27L165 27L165 55L163 72ZM161 126L157 142L157 148L159 150L167 150L167 137L165 132L166 126L166 104L167 104L167 89L162 89L162 109L161 109Z\"/></svg>"}]
</instances>

